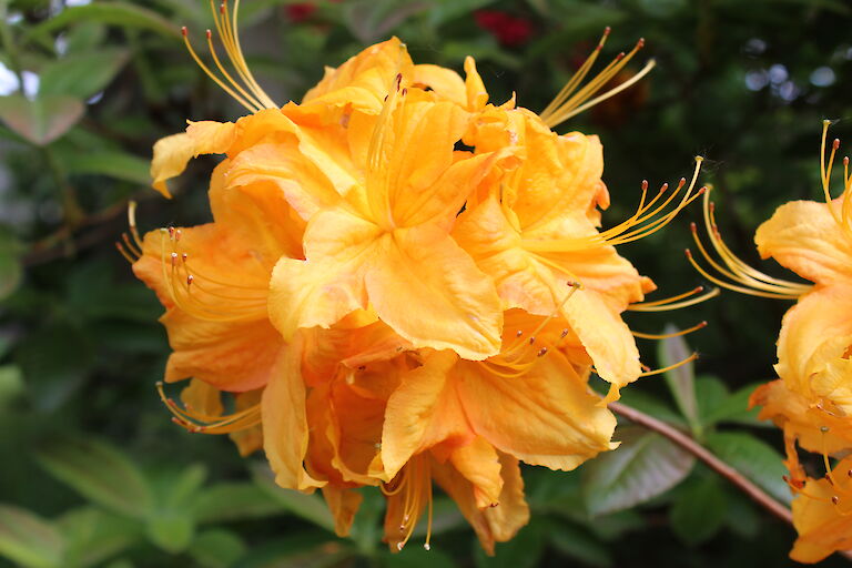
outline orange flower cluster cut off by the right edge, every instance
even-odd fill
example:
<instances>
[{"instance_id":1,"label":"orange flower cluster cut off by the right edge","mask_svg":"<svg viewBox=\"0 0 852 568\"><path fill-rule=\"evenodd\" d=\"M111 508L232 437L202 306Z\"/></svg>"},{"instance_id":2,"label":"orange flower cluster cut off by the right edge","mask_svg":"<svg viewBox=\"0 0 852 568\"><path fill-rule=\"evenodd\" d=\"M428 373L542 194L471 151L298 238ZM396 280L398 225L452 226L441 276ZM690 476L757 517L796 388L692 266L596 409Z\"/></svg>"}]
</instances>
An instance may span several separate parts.
<instances>
[{"instance_id":1,"label":"orange flower cluster cut off by the right edge","mask_svg":"<svg viewBox=\"0 0 852 568\"><path fill-rule=\"evenodd\" d=\"M751 404L760 417L784 430L787 478L795 495L793 524L799 538L790 552L800 562L818 562L852 548L852 176L843 159L843 192L831 196L831 172L840 141L826 149L830 121L823 121L820 174L824 202L794 201L781 205L757 231L763 258L772 257L799 276L800 284L774 278L739 258L721 240L712 203L704 199L704 221L712 251L693 226L699 252L719 278L692 265L717 284L763 297L798 300L781 323L778 338L780 377L759 387ZM828 160L828 161L826 161ZM797 445L822 455L824 477L809 477L799 463ZM842 458L832 465L832 456Z\"/></svg>"}]
</instances>

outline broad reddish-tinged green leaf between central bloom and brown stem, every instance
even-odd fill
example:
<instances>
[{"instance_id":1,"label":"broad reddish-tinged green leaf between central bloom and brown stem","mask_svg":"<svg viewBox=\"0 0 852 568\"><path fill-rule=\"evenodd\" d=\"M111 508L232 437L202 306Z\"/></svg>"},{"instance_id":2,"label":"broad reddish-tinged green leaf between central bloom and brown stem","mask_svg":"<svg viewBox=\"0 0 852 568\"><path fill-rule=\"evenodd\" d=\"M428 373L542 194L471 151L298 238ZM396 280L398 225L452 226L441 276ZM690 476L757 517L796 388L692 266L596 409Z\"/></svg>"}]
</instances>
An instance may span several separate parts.
<instances>
[{"instance_id":1,"label":"broad reddish-tinged green leaf between central bloom and brown stem","mask_svg":"<svg viewBox=\"0 0 852 568\"><path fill-rule=\"evenodd\" d=\"M694 457L668 439L640 428L619 428L621 446L582 468L586 508L605 515L645 503L683 480Z\"/></svg>"}]
</instances>

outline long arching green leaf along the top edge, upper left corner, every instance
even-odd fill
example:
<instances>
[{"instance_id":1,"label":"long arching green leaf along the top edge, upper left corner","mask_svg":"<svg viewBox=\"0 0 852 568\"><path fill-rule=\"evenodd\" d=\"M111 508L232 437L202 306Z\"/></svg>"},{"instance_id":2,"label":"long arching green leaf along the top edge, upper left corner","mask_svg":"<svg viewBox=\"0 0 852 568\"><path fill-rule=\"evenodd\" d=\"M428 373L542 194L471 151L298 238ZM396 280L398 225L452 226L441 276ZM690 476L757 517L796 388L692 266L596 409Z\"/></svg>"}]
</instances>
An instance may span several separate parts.
<instances>
[{"instance_id":1,"label":"long arching green leaf along the top edge, upper left corner","mask_svg":"<svg viewBox=\"0 0 852 568\"><path fill-rule=\"evenodd\" d=\"M75 22L101 22L125 28L151 30L161 36L175 39L181 37L176 26L153 10L125 2L94 2L62 10L59 14L31 28L29 33L24 36L23 42L32 41L39 36L48 36L54 30Z\"/></svg>"}]
</instances>

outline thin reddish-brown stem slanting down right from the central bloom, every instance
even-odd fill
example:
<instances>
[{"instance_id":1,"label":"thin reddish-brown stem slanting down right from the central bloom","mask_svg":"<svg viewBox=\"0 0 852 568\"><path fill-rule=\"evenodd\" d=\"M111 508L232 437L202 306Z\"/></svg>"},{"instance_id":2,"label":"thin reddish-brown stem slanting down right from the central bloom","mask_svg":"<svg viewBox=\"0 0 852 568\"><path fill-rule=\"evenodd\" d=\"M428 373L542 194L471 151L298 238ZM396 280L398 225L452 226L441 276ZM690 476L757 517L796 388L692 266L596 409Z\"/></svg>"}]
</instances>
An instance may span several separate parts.
<instances>
[{"instance_id":1,"label":"thin reddish-brown stem slanting down right from the central bloom","mask_svg":"<svg viewBox=\"0 0 852 568\"><path fill-rule=\"evenodd\" d=\"M763 489L743 477L742 474L737 471L734 468L716 457L710 450L692 439L690 436L683 434L677 428L669 426L665 422L658 420L653 416L649 416L621 403L609 403L608 406L610 410L623 416L625 418L628 418L633 424L638 424L639 426L643 426L649 430L653 430L662 436L666 436L671 442L707 464L712 470L731 481L746 495L751 497L758 505L768 509L772 515L790 525L793 524L793 515L790 513L790 509L767 495ZM852 550L838 550L838 552L845 557L848 560L852 560Z\"/></svg>"}]
</instances>

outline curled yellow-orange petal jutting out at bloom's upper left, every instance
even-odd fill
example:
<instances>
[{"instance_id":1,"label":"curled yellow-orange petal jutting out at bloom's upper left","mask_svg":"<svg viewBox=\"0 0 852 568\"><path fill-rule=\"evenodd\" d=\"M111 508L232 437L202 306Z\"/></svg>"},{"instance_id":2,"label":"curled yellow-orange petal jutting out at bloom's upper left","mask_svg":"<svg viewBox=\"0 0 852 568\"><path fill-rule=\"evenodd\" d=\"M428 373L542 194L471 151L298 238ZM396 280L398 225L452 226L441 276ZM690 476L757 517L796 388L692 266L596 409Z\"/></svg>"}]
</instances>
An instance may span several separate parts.
<instances>
[{"instance_id":1,"label":"curled yellow-orange petal jutting out at bloom's upper left","mask_svg":"<svg viewBox=\"0 0 852 568\"><path fill-rule=\"evenodd\" d=\"M152 186L171 197L166 180L183 173L186 163L200 154L221 154L227 151L236 133L233 122L191 122L186 132L156 141L151 161Z\"/></svg>"}]
</instances>

